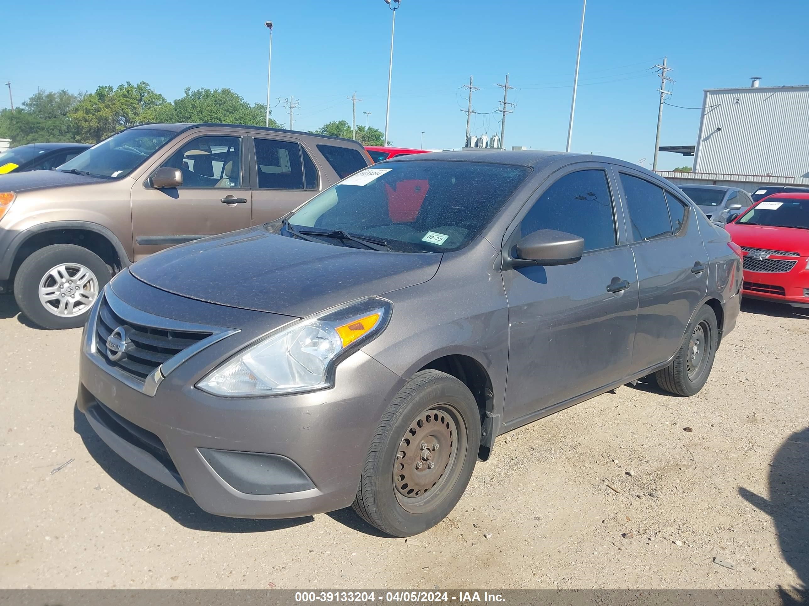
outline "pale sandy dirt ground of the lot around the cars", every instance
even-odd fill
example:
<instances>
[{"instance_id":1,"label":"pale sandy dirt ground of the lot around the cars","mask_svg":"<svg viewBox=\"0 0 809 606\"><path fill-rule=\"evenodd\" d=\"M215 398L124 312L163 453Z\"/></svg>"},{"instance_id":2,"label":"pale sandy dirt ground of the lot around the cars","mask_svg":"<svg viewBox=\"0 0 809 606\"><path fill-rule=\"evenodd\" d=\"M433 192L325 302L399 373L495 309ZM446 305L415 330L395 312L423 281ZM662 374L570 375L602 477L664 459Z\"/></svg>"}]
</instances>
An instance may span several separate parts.
<instances>
[{"instance_id":1,"label":"pale sandy dirt ground of the lot around the cars","mask_svg":"<svg viewBox=\"0 0 809 606\"><path fill-rule=\"evenodd\" d=\"M79 334L0 297L2 588L809 584L809 313L745 302L695 398L624 386L501 436L407 542L210 516L133 469L75 414Z\"/></svg>"}]
</instances>

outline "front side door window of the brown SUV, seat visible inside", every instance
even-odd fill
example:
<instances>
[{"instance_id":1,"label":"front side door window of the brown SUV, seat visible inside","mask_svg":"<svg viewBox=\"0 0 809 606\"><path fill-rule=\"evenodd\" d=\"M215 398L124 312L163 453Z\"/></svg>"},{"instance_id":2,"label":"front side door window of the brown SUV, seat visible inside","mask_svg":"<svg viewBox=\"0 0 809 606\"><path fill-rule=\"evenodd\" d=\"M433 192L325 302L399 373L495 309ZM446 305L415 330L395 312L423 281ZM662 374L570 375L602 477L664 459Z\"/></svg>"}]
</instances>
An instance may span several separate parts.
<instances>
[{"instance_id":1,"label":"front side door window of the brown SUV, seat visible inside","mask_svg":"<svg viewBox=\"0 0 809 606\"><path fill-rule=\"evenodd\" d=\"M241 137L197 137L172 154L163 166L182 171L180 187L242 187Z\"/></svg>"}]
</instances>

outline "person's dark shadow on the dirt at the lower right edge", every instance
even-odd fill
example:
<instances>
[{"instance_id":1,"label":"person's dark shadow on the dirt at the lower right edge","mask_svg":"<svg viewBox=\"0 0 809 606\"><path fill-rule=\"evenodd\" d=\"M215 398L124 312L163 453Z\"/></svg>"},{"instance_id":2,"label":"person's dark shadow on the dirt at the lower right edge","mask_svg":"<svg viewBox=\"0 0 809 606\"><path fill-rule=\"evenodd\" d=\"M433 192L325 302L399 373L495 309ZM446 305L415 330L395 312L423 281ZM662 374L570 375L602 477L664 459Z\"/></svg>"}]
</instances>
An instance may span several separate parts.
<instances>
[{"instance_id":1,"label":"person's dark shadow on the dirt at the lower right edge","mask_svg":"<svg viewBox=\"0 0 809 606\"><path fill-rule=\"evenodd\" d=\"M769 470L769 499L742 487L739 494L773 517L781 553L803 583L796 588L798 600L784 588L781 600L784 604L809 603L809 427L788 437L775 453Z\"/></svg>"}]
</instances>

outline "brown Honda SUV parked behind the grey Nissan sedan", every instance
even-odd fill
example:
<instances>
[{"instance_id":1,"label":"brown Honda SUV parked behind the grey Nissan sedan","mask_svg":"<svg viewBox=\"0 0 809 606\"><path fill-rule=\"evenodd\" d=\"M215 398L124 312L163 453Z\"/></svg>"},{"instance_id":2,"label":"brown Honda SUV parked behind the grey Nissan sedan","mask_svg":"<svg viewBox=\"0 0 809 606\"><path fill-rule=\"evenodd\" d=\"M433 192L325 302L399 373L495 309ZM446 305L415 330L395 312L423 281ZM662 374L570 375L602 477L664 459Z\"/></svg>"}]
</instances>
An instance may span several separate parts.
<instances>
[{"instance_id":1,"label":"brown Honda SUV parked behind the grey Nissan sedan","mask_svg":"<svg viewBox=\"0 0 809 606\"><path fill-rule=\"evenodd\" d=\"M121 268L273 221L371 163L356 141L310 133L129 128L57 170L0 176L0 292L40 326L82 326Z\"/></svg>"}]
</instances>

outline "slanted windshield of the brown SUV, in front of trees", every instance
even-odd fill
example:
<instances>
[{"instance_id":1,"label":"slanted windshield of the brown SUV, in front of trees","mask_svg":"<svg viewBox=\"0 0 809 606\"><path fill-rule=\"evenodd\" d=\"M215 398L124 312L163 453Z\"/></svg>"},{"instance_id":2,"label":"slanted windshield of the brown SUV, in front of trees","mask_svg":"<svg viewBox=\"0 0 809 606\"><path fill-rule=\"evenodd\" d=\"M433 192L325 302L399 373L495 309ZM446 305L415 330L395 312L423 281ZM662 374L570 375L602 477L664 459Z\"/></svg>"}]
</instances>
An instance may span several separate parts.
<instances>
[{"instance_id":1,"label":"slanted windshield of the brown SUV, in front of trees","mask_svg":"<svg viewBox=\"0 0 809 606\"><path fill-rule=\"evenodd\" d=\"M156 128L130 128L93 145L57 170L121 179L175 135L172 131Z\"/></svg>"}]
</instances>

